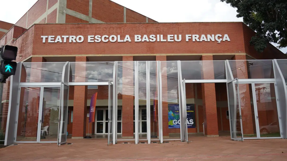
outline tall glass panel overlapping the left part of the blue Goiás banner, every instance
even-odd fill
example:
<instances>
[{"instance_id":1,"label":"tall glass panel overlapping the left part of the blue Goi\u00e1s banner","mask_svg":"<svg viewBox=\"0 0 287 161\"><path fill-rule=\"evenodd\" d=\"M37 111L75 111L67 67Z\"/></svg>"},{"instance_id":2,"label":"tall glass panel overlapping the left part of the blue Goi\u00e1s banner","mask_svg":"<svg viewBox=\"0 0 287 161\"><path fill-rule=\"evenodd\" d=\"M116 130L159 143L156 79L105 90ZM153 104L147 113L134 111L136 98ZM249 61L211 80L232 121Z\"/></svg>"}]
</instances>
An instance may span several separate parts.
<instances>
[{"instance_id":1,"label":"tall glass panel overlapping the left part of the blue Goi\u00e1s banner","mask_svg":"<svg viewBox=\"0 0 287 161\"><path fill-rule=\"evenodd\" d=\"M161 61L163 139L180 139L177 61Z\"/></svg>"}]
</instances>

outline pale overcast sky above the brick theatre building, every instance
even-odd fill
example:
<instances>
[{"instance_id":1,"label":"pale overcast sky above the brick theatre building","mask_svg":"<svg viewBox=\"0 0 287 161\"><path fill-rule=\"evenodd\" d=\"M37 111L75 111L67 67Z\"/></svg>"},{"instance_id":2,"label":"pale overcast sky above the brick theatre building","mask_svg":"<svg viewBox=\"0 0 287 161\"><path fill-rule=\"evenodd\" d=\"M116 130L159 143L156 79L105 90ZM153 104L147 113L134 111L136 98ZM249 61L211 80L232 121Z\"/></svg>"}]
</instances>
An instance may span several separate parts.
<instances>
[{"instance_id":1,"label":"pale overcast sky above the brick theatre building","mask_svg":"<svg viewBox=\"0 0 287 161\"><path fill-rule=\"evenodd\" d=\"M0 20L16 23L37 0L0 0ZM242 22L220 0L112 0L158 22ZM5 7L3 7L5 6ZM17 12L15 12L17 11ZM277 45L275 45L277 46ZM280 49L287 53L287 47Z\"/></svg>"}]
</instances>

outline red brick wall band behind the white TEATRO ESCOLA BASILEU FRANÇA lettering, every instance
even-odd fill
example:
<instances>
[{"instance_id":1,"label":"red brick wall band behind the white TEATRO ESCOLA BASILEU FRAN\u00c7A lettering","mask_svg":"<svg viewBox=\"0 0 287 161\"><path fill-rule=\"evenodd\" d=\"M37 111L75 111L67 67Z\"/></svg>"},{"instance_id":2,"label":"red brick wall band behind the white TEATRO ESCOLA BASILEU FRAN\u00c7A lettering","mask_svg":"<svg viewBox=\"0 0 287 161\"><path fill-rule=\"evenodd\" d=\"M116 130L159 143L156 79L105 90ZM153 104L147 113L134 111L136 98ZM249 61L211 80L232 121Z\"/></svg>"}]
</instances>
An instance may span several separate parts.
<instances>
[{"instance_id":1,"label":"red brick wall band behind the white TEATRO ESCOLA BASILEU FRAN\u00c7A lettering","mask_svg":"<svg viewBox=\"0 0 287 161\"><path fill-rule=\"evenodd\" d=\"M68 22L68 21L67 21ZM59 30L61 28L61 30ZM226 29L227 28L227 29ZM73 35L81 29L85 40L82 43L42 43L41 35ZM185 34L228 34L230 41L217 42L189 42L185 41ZM241 23L122 23L122 24L49 24L35 25L35 53L51 54L49 47L53 47L53 55L81 54L178 54L178 53L238 53L244 52L244 41ZM132 42L100 42L88 43L88 35L130 35ZM182 34L181 42L133 42L134 35L161 33ZM69 49L69 50L66 50ZM117 50L115 50L117 49Z\"/></svg>"}]
</instances>

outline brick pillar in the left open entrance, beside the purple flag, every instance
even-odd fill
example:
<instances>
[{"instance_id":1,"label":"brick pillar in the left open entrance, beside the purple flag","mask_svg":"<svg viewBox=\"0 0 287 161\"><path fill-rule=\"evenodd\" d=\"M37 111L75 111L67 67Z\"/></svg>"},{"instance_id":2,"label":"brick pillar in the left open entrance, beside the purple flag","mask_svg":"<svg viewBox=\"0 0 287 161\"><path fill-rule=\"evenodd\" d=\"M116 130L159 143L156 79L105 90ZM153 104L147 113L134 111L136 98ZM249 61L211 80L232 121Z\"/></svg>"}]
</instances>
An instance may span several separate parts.
<instances>
[{"instance_id":1,"label":"brick pillar in the left open entrance, beside the purple flag","mask_svg":"<svg viewBox=\"0 0 287 161\"><path fill-rule=\"evenodd\" d=\"M83 64L88 61L86 56L76 56L76 62ZM86 82L86 65L75 66L75 82ZM86 136L88 86L74 86L73 133L72 139Z\"/></svg>"}]
</instances>

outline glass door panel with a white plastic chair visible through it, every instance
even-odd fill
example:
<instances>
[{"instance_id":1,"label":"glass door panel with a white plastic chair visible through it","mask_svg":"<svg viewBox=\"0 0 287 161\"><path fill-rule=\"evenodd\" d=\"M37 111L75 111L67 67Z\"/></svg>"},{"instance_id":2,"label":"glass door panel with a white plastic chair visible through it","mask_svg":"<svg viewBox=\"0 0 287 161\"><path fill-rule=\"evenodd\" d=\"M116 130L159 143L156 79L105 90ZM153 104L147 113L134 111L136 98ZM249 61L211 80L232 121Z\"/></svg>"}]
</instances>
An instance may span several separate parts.
<instances>
[{"instance_id":1,"label":"glass door panel with a white plastic chair visible through it","mask_svg":"<svg viewBox=\"0 0 287 161\"><path fill-rule=\"evenodd\" d=\"M57 141L61 87L44 87L40 141Z\"/></svg>"}]
</instances>

